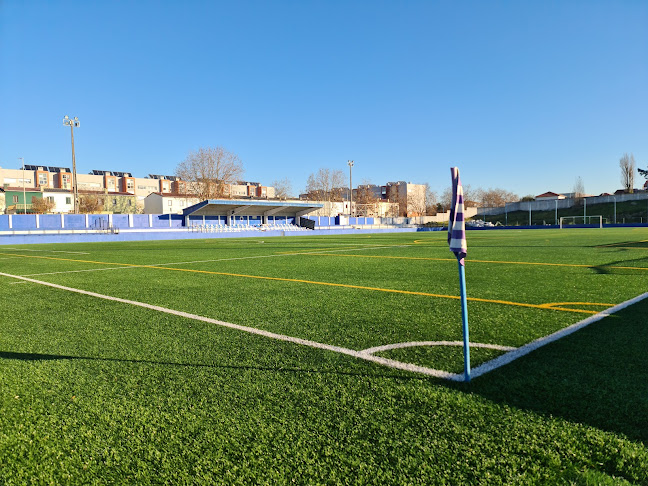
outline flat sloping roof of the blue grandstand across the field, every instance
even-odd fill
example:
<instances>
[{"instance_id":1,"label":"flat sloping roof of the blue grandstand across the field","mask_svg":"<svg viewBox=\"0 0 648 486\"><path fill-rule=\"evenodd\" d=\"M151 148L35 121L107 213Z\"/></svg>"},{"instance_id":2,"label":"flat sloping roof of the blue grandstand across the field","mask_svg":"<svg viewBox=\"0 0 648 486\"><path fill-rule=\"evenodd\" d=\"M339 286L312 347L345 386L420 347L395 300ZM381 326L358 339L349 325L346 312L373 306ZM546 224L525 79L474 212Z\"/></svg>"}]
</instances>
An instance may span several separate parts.
<instances>
[{"instance_id":1,"label":"flat sloping roof of the blue grandstand across the field","mask_svg":"<svg viewBox=\"0 0 648 486\"><path fill-rule=\"evenodd\" d=\"M273 200L206 199L182 211L183 216L216 216L236 214L257 216L271 211L276 216L296 216L324 207L323 204ZM234 211L234 213L232 213Z\"/></svg>"}]
</instances>

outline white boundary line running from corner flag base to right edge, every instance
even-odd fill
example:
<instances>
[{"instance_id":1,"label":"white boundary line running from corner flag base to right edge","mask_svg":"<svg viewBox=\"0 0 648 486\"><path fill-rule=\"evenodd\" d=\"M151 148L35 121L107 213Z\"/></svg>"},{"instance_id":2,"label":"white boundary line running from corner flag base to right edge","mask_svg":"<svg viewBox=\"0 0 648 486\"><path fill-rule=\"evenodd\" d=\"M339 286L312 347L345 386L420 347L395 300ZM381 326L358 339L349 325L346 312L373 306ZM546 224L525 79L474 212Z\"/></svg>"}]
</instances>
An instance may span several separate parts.
<instances>
[{"instance_id":1,"label":"white boundary line running from corner flag base to right edge","mask_svg":"<svg viewBox=\"0 0 648 486\"><path fill-rule=\"evenodd\" d=\"M548 336L544 336L539 339L536 339L535 341L532 341L529 344L525 344L524 346L517 348L515 351L511 351L510 353L506 353L501 356L498 356L495 359L487 361L486 363L483 363L473 368L471 370L471 375L473 378L477 378L478 376L485 375L486 373L490 373L491 371L496 370L497 368L500 368L504 365L507 365L512 361L515 361L516 359L521 358L522 356L525 356L530 352L535 351L536 349L541 348L546 344L552 343L554 341L557 341L558 339L568 336L569 334L572 334L580 329L583 329L584 327L587 327L594 322L600 321L601 319L604 319L610 316L611 314L614 314L615 312L619 312L620 310L625 309L626 307L636 304L637 302L641 302L646 298L648 298L648 292L641 294L635 297L634 299L621 302L620 304L615 305L614 307L610 307L609 309L606 309L602 312L599 312L598 314L590 316L587 319L583 319L582 321L572 324L571 326L556 331L553 334L549 334Z\"/></svg>"}]
</instances>

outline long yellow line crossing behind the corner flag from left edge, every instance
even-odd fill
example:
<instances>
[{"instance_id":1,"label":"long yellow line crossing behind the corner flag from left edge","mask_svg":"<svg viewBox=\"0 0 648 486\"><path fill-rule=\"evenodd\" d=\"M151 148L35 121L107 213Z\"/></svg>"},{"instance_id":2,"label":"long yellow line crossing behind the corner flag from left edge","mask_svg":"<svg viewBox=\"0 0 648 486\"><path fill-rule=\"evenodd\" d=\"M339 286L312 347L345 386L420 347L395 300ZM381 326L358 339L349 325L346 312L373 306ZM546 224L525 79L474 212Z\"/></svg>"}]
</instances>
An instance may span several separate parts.
<instances>
[{"instance_id":1,"label":"long yellow line crossing behind the corner flag from left edge","mask_svg":"<svg viewBox=\"0 0 648 486\"><path fill-rule=\"evenodd\" d=\"M341 288L348 288L348 289L359 289L359 290L372 290L372 291L377 291L377 292L388 292L388 293L394 293L394 294L404 294L404 295L419 295L423 297L436 297L436 298L443 298L443 299L455 299L458 300L461 297L457 295L444 295L444 294L432 294L428 292L416 292L412 290L397 290L397 289L384 289L380 287L367 287L363 285L351 285L351 284L341 284L341 283L334 283L334 282L318 282L318 281L313 281L313 280L302 280L302 279L296 279L296 278L284 278L284 277L264 277L261 275L246 275L242 273L229 273L229 272L213 272L209 270L193 270L189 268L172 268L172 267L157 267L154 265L137 265L134 263L115 263L115 262L98 262L94 260L75 260L72 258L58 258L58 257L47 257L47 256L38 256L38 255L19 255L19 254L12 254L12 253L0 253L0 255L7 255L7 256L18 256L18 257L23 257L23 258L37 258L37 259L42 259L42 260L55 260L55 261L66 261L66 262L77 262L77 263L93 263L96 265L121 265L125 267L137 267L137 268L151 268L155 270L167 270L171 272L189 272L189 273L200 273L200 274L207 274L207 275L223 275L223 276L228 276L228 277L242 277L242 278L253 278L253 279L259 279L259 280L273 280L273 281L278 281L278 282L294 282L294 283L305 283L305 284L311 284L311 285L325 285L329 287L341 287ZM468 300L473 301L473 302L486 302L486 303L491 303L491 304L503 304L503 305L513 305L517 307L528 307L532 309L545 309L545 310L559 310L563 312L577 312L581 314L596 314L594 311L588 311L588 310L583 310L583 309L562 309L562 308L552 308L552 307L547 307L549 304L525 304L522 302L511 302L507 300L496 300L496 299L481 299L478 297L468 297Z\"/></svg>"}]
</instances>

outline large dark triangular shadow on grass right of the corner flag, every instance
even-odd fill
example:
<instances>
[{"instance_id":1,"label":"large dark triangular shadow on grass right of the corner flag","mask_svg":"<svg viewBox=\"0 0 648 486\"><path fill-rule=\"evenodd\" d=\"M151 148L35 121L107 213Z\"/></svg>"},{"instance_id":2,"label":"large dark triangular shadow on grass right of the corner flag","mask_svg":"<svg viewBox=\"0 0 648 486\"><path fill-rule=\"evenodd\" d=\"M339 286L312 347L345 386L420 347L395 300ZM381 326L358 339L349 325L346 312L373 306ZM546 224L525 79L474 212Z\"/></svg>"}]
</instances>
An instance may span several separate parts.
<instances>
[{"instance_id":1,"label":"large dark triangular shadow on grass right of the corner flag","mask_svg":"<svg viewBox=\"0 0 648 486\"><path fill-rule=\"evenodd\" d=\"M648 443L648 300L513 363L450 384Z\"/></svg>"}]
</instances>

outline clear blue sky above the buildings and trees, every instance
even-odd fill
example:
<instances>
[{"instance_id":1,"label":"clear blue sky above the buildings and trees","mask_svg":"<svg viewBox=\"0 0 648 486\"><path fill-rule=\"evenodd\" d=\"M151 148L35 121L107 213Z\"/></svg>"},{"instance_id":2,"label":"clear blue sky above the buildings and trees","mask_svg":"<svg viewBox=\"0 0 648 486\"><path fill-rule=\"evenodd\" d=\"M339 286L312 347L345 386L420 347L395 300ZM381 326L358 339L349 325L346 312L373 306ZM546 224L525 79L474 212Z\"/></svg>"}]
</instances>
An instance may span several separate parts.
<instances>
[{"instance_id":1,"label":"clear blue sky above the buildings and trees","mask_svg":"<svg viewBox=\"0 0 648 486\"><path fill-rule=\"evenodd\" d=\"M0 0L0 166L319 168L520 196L648 167L648 1ZM639 181L638 175L636 186Z\"/></svg>"}]
</instances>

